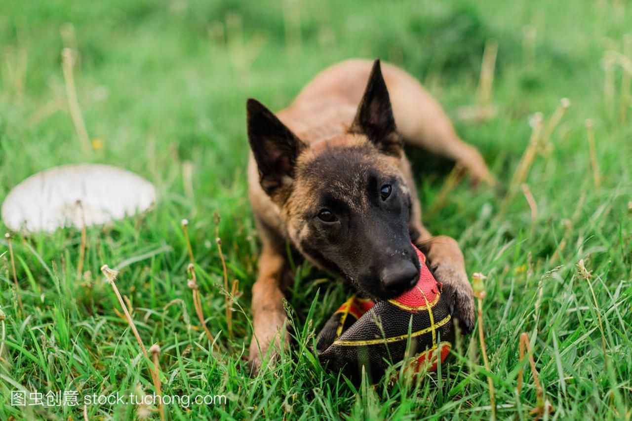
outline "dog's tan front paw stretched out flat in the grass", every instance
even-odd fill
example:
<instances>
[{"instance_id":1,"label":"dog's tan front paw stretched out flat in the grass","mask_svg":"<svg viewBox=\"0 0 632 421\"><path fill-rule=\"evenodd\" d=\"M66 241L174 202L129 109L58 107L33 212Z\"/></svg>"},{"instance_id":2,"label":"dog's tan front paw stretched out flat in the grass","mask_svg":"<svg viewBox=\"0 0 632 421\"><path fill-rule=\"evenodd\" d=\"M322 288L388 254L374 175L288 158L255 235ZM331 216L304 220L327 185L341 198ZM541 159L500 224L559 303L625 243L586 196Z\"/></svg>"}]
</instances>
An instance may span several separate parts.
<instances>
[{"instance_id":1,"label":"dog's tan front paw stretched out flat in the grass","mask_svg":"<svg viewBox=\"0 0 632 421\"><path fill-rule=\"evenodd\" d=\"M286 315L283 311L264 312L255 318L255 332L248 354L250 375L257 375L264 362L274 363L281 346L288 343L285 321Z\"/></svg>"}]
</instances>

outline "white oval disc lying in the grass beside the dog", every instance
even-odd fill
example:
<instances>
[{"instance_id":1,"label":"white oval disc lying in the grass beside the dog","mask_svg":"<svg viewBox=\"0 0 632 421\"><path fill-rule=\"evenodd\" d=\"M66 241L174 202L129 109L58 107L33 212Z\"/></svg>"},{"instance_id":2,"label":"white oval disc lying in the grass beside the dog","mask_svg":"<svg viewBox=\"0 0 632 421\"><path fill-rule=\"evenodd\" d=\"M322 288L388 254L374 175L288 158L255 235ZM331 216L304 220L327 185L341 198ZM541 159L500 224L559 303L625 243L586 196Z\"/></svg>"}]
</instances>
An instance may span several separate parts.
<instances>
[{"instance_id":1,"label":"white oval disc lying in the grass beside the dog","mask_svg":"<svg viewBox=\"0 0 632 421\"><path fill-rule=\"evenodd\" d=\"M102 225L143 212L155 187L125 169L71 164L33 174L4 199L2 219L13 231L52 233L58 228Z\"/></svg>"}]
</instances>

